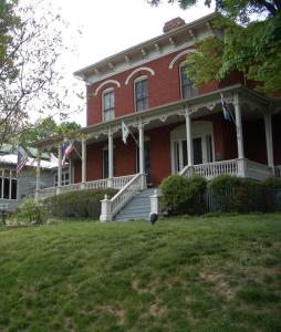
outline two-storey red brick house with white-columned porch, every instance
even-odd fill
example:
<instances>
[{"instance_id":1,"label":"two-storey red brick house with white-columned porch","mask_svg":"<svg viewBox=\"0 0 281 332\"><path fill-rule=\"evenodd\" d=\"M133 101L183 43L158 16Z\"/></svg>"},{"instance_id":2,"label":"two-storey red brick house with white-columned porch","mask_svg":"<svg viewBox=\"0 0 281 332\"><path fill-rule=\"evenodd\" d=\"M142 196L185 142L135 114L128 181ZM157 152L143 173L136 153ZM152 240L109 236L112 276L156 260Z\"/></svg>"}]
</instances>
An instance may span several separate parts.
<instances>
[{"instance_id":1,"label":"two-storey red brick house with white-columned porch","mask_svg":"<svg viewBox=\"0 0 281 332\"><path fill-rule=\"evenodd\" d=\"M253 91L240 73L198 90L186 76L195 41L221 37L214 20L171 20L159 37L74 73L86 84L87 124L75 143L82 159L72 155L73 184L61 188L59 181L56 190L113 186L132 194L177 173L280 176L281 101ZM235 121L223 118L221 94ZM126 144L122 123L134 135ZM61 158L56 138L37 143L39 149L58 145ZM39 189L39 196L55 190ZM133 194L126 195L123 205Z\"/></svg>"}]
</instances>

